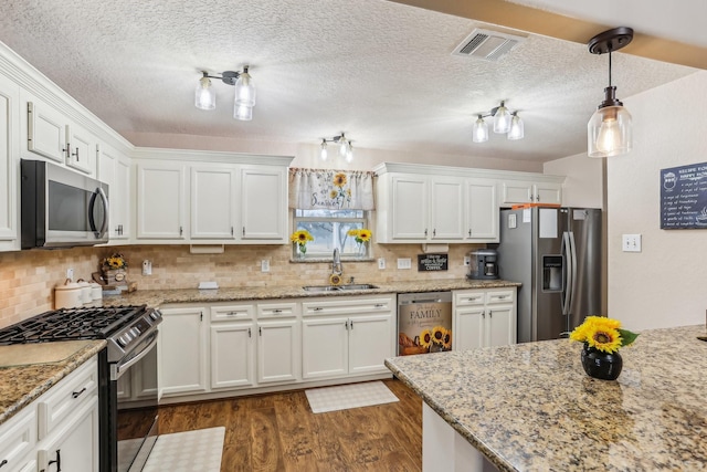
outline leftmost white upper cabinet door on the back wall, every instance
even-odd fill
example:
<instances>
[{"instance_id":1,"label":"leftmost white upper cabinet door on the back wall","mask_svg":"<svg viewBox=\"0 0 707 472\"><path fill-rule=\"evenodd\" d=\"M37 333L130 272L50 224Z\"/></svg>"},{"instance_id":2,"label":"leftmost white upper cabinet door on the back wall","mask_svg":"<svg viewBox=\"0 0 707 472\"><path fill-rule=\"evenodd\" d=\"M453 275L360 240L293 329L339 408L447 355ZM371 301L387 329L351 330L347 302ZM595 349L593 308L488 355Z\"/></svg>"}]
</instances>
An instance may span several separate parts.
<instances>
[{"instance_id":1,"label":"leftmost white upper cabinet door on the back wall","mask_svg":"<svg viewBox=\"0 0 707 472\"><path fill-rule=\"evenodd\" d=\"M138 239L184 241L186 168L181 162L137 164Z\"/></svg>"}]
</instances>

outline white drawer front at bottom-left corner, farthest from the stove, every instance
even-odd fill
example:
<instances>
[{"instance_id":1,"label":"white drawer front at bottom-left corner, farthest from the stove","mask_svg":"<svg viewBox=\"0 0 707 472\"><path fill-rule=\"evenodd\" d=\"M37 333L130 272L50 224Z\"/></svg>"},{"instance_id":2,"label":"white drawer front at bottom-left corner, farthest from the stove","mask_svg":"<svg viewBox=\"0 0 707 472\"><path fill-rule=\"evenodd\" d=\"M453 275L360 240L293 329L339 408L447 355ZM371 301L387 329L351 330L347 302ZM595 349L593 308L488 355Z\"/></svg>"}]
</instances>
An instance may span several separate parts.
<instances>
[{"instance_id":1,"label":"white drawer front at bottom-left corner, farthest from the stove","mask_svg":"<svg viewBox=\"0 0 707 472\"><path fill-rule=\"evenodd\" d=\"M33 461L36 443L36 415L34 403L24 408L0 428L0 464L1 470L27 470ZM7 461L7 462L6 462Z\"/></svg>"}]
</instances>

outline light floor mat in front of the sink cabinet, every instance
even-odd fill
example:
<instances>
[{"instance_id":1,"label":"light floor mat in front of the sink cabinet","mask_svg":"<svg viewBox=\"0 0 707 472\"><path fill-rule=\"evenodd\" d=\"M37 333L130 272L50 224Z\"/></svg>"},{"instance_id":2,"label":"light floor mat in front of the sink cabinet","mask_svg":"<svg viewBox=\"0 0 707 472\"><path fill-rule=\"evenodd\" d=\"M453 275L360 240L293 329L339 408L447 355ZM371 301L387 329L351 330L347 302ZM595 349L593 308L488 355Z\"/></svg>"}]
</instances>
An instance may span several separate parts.
<instances>
[{"instance_id":1,"label":"light floor mat in front of the sink cabinet","mask_svg":"<svg viewBox=\"0 0 707 472\"><path fill-rule=\"evenodd\" d=\"M314 413L399 401L382 381L312 388L305 390L305 395Z\"/></svg>"}]
</instances>

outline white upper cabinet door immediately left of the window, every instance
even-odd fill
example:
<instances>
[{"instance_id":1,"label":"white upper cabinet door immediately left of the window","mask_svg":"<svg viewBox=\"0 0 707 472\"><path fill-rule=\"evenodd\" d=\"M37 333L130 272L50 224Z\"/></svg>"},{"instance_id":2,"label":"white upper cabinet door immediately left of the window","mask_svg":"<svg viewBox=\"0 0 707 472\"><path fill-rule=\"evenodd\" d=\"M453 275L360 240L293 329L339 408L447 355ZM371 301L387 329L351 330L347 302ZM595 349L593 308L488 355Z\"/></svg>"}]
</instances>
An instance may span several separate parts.
<instances>
[{"instance_id":1,"label":"white upper cabinet door immediately left of the window","mask_svg":"<svg viewBox=\"0 0 707 472\"><path fill-rule=\"evenodd\" d=\"M241 168L241 239L287 242L287 169Z\"/></svg>"}]
</instances>

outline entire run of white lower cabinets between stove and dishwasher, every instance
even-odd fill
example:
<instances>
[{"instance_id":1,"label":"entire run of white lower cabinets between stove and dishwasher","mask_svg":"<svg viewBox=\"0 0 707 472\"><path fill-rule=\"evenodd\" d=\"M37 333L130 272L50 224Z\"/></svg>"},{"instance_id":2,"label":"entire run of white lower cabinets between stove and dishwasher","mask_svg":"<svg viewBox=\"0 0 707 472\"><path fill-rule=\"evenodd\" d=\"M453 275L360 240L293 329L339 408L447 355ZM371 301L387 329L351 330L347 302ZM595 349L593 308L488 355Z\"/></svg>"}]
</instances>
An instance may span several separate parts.
<instances>
[{"instance_id":1,"label":"entire run of white lower cabinets between stove and dishwasher","mask_svg":"<svg viewBox=\"0 0 707 472\"><path fill-rule=\"evenodd\" d=\"M390 375L384 359L395 355L394 294L170 304L160 311L165 398L383 378Z\"/></svg>"}]
</instances>

